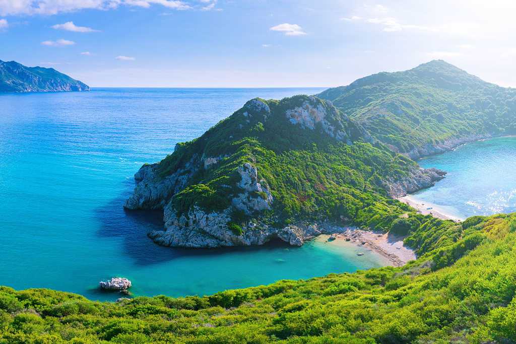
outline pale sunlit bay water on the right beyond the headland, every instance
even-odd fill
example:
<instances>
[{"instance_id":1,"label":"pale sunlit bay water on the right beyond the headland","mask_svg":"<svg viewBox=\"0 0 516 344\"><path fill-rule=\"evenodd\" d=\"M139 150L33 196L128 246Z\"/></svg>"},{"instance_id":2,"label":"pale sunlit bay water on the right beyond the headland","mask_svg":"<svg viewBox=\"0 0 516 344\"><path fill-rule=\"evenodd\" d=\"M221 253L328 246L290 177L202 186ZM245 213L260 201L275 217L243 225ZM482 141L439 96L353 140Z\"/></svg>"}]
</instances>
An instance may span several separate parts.
<instances>
[{"instance_id":1,"label":"pale sunlit bay water on the right beyond the headland","mask_svg":"<svg viewBox=\"0 0 516 344\"><path fill-rule=\"evenodd\" d=\"M436 186L416 193L417 199L443 206L459 218L516 211L515 137L464 144L419 162L448 174Z\"/></svg>"}]
</instances>

